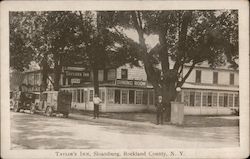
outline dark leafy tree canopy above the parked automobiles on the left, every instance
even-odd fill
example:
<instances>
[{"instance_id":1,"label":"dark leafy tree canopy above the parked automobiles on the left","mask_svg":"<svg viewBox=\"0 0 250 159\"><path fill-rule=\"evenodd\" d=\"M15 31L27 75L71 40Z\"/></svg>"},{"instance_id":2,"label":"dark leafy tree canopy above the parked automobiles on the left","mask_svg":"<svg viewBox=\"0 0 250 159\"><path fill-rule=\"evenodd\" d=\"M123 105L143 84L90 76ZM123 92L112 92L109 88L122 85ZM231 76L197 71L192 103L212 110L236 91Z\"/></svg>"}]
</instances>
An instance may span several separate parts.
<instances>
[{"instance_id":1,"label":"dark leafy tree canopy above the parked automobiles on the left","mask_svg":"<svg viewBox=\"0 0 250 159\"><path fill-rule=\"evenodd\" d=\"M56 90L63 66L98 70L138 65L138 45L109 30L101 14L90 11L11 12L10 48L12 68L23 71L36 61L45 87L48 72L54 72Z\"/></svg>"}]
</instances>

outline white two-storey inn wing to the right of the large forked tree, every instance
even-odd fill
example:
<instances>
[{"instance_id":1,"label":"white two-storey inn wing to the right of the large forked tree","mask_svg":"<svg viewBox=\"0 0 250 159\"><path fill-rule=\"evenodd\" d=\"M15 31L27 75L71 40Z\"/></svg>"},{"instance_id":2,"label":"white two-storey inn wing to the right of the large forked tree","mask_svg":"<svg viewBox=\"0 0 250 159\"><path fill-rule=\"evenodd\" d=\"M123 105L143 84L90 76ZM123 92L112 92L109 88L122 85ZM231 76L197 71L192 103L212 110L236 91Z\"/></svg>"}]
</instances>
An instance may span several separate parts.
<instances>
[{"instance_id":1,"label":"white two-storey inn wing to the right of the large forked tree","mask_svg":"<svg viewBox=\"0 0 250 159\"><path fill-rule=\"evenodd\" d=\"M178 100L185 103L185 114L231 114L233 109L239 109L239 72L226 67L197 66L184 83Z\"/></svg>"}]
</instances>

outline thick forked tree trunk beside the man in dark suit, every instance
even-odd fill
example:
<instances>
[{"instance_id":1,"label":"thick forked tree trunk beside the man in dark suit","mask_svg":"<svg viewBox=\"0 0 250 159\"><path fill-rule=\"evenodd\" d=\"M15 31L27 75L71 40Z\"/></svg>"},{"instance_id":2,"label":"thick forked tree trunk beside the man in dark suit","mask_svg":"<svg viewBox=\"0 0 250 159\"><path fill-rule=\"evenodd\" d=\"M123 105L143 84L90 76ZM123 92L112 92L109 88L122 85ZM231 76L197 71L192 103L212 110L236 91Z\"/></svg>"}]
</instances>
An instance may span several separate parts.
<instances>
[{"instance_id":1,"label":"thick forked tree trunk beside the man in dark suit","mask_svg":"<svg viewBox=\"0 0 250 159\"><path fill-rule=\"evenodd\" d=\"M163 102L165 103L166 108L166 121L170 121L171 119L171 101L176 98L176 90L175 83L177 82L177 70L169 69L169 61L168 61L168 47L166 45L165 39L165 30L160 34L160 43L161 48L159 50L160 61L162 66L162 74L164 77L161 77L161 73L156 71L153 67L153 64L150 61L149 54L147 53L147 47L145 43L145 39L143 37L143 28L142 28L142 20L140 12L133 12L132 20L134 22L135 28L139 35L139 43L142 47L142 54L140 54L143 63L144 69L147 74L147 80L153 85L155 91L155 99L156 102L158 100L158 96L163 97ZM163 79L162 79L163 78Z\"/></svg>"}]
</instances>

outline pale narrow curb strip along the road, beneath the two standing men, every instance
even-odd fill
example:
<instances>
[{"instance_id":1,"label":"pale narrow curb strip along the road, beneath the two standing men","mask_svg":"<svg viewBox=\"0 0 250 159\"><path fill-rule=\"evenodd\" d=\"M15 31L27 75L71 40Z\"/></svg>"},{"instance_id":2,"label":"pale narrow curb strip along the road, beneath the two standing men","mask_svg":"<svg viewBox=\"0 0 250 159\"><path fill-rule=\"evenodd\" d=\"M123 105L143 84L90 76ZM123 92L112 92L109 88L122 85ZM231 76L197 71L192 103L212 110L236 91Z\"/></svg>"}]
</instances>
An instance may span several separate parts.
<instances>
[{"instance_id":1,"label":"pale narrow curb strip along the road, beneath the two standing men","mask_svg":"<svg viewBox=\"0 0 250 159\"><path fill-rule=\"evenodd\" d=\"M153 123L149 122L138 122L138 121L129 121L129 120L120 120L120 119L110 119L101 117L99 119L93 119L93 117L88 115L82 115L82 114L69 114L69 119L76 119L76 120L85 120L85 121L91 121L95 123L105 123L105 124L112 124L112 125L118 125L118 126L132 126L132 127L151 127L151 128L161 128L161 127L172 127L173 125L155 125Z\"/></svg>"}]
</instances>

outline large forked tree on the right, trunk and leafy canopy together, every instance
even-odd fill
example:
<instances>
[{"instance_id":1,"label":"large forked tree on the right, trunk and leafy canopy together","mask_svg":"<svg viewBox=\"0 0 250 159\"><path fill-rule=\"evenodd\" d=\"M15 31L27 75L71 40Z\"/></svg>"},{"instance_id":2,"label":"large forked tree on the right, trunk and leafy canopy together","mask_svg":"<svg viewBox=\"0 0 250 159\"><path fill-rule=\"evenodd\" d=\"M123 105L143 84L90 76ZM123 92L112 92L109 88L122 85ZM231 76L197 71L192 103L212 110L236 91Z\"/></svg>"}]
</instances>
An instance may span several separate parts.
<instances>
[{"instance_id":1,"label":"large forked tree on the right, trunk and leafy canopy together","mask_svg":"<svg viewBox=\"0 0 250 159\"><path fill-rule=\"evenodd\" d=\"M156 95L162 95L168 105L168 120L176 88L182 87L196 65L206 61L211 67L226 63L238 67L236 10L109 11L105 14L110 28L119 26L137 32L138 58ZM145 36L150 34L158 35L159 43L148 50ZM184 65L191 67L182 76Z\"/></svg>"}]
</instances>

